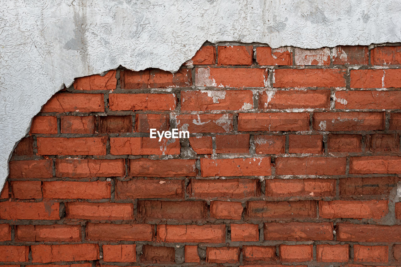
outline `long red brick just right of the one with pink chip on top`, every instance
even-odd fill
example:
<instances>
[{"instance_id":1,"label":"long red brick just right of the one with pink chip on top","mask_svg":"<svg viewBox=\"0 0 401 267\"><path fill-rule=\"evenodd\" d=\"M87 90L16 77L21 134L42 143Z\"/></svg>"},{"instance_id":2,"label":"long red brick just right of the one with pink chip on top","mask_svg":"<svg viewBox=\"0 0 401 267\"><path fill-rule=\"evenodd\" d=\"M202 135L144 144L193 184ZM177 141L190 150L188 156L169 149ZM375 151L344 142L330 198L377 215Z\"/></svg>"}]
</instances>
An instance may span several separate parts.
<instances>
[{"instance_id":1,"label":"long red brick just right of the one with pink chip on top","mask_svg":"<svg viewBox=\"0 0 401 267\"><path fill-rule=\"evenodd\" d=\"M259 180L227 179L196 180L190 183L190 195L195 198L245 198L259 196Z\"/></svg>"}]
</instances>

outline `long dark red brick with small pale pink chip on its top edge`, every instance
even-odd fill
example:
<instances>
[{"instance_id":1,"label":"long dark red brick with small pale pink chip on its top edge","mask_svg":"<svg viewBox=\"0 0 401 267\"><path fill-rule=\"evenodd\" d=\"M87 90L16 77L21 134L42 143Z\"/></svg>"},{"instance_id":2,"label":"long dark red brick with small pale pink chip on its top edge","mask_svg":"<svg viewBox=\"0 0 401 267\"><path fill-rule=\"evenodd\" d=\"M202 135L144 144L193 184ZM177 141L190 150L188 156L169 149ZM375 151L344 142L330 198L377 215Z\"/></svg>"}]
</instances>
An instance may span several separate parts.
<instances>
[{"instance_id":1,"label":"long dark red brick with small pale pink chip on its top edge","mask_svg":"<svg viewBox=\"0 0 401 267\"><path fill-rule=\"evenodd\" d=\"M165 182L165 183L160 183ZM116 197L133 198L184 198L184 180L130 180L116 182Z\"/></svg>"}]
</instances>

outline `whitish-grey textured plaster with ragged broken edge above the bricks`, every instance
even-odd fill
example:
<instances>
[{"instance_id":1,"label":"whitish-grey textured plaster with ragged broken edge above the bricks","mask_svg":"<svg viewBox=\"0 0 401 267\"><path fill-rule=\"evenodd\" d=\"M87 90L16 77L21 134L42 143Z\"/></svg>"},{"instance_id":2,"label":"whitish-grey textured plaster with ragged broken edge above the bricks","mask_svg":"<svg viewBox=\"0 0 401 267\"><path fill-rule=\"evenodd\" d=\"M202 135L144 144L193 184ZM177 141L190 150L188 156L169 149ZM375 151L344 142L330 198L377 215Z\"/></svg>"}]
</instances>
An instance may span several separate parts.
<instances>
[{"instance_id":1,"label":"whitish-grey textured plaster with ragged broken edge above the bricks","mask_svg":"<svg viewBox=\"0 0 401 267\"><path fill-rule=\"evenodd\" d=\"M401 0L10 0L0 6L0 188L43 104L122 65L177 71L206 40L273 48L401 41Z\"/></svg>"}]
</instances>

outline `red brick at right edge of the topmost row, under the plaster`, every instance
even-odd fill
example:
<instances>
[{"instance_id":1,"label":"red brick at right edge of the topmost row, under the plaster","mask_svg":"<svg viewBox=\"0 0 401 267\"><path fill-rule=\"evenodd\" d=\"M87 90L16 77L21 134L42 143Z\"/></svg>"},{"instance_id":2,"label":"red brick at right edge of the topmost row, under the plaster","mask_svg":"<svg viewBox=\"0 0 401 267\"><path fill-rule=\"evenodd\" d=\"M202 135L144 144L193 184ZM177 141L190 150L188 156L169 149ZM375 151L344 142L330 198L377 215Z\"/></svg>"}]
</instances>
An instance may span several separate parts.
<instances>
[{"instance_id":1,"label":"red brick at right edge of the topmost row, under the plaster","mask_svg":"<svg viewBox=\"0 0 401 267\"><path fill-rule=\"evenodd\" d=\"M373 65L401 64L401 46L375 47L371 50Z\"/></svg>"}]
</instances>

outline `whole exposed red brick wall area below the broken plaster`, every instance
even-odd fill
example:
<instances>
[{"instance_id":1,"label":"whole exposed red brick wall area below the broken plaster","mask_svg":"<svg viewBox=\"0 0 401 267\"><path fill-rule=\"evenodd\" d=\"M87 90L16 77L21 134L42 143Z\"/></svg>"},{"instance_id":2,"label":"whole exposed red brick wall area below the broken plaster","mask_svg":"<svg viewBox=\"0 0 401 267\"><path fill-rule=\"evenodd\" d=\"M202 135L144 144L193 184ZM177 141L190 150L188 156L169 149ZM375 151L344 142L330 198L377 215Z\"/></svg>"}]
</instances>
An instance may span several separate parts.
<instances>
[{"instance_id":1,"label":"whole exposed red brick wall area below the broken plaster","mask_svg":"<svg viewBox=\"0 0 401 267\"><path fill-rule=\"evenodd\" d=\"M174 74L76 79L14 151L0 264L400 266L400 66L209 44Z\"/></svg>"}]
</instances>

